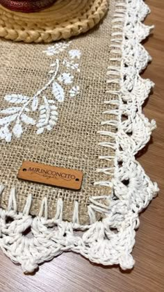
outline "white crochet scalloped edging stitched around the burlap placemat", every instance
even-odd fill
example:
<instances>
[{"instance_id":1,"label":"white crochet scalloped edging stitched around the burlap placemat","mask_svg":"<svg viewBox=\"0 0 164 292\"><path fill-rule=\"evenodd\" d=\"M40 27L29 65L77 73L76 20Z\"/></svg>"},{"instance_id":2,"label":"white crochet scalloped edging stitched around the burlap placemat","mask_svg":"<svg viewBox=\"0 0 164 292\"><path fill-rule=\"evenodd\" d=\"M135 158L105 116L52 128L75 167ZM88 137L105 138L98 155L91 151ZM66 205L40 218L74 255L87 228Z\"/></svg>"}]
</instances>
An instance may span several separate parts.
<instances>
[{"instance_id":1,"label":"white crochet scalloped edging stitched around the burlap placemat","mask_svg":"<svg viewBox=\"0 0 164 292\"><path fill-rule=\"evenodd\" d=\"M142 104L153 83L139 75L151 60L140 44L152 29L141 23L148 13L149 8L142 0L115 1L111 54L117 57L110 60L120 60L121 66L109 67L107 75L108 83L119 84L120 90L108 92L115 97L112 102L106 101L106 104L117 106L108 111L115 119L102 124L117 127L117 133L99 132L115 139L113 143L101 143L103 147L115 149L115 175L112 181L95 182L95 186L113 187L113 194L108 197L109 205L99 203L100 197L90 199L88 214L91 224L81 226L78 202L74 203L72 222L65 222L62 218L63 201L58 200L56 217L49 220L47 198L44 198L39 215L33 218L29 215L31 195L24 211L18 213L13 188L8 210L0 209L1 250L12 261L20 263L24 273L32 273L40 263L64 251L79 253L103 265L119 264L123 270L133 268L135 262L131 252L135 229L139 225L138 214L158 192L156 183L151 182L135 158L156 127L154 120L149 122L142 113ZM122 115L126 116L126 120L122 120ZM110 161L113 157L103 156L100 159ZM99 171L110 173L109 169ZM0 193L3 188L1 185ZM95 211L106 213L106 218L96 221ZM24 236L28 228L31 228L31 238ZM83 235L74 234L76 230L82 230Z\"/></svg>"}]
</instances>

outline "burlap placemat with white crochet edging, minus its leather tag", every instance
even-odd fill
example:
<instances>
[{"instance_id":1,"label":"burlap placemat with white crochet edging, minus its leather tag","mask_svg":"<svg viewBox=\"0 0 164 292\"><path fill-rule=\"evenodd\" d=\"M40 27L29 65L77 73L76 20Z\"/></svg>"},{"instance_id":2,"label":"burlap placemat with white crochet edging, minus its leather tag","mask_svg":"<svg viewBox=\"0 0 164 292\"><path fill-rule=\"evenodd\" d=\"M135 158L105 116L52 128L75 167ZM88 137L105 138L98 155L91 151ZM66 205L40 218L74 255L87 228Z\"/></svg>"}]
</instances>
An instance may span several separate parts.
<instances>
[{"instance_id":1,"label":"burlap placemat with white crochet edging, minus its leather tag","mask_svg":"<svg viewBox=\"0 0 164 292\"><path fill-rule=\"evenodd\" d=\"M154 128L140 113L151 88L138 74L149 60L139 44L148 11L110 0L104 21L80 38L1 40L0 246L25 272L64 250L133 267L138 213L157 190L135 161ZM17 179L23 161L81 170L81 190Z\"/></svg>"}]
</instances>

